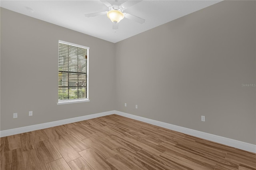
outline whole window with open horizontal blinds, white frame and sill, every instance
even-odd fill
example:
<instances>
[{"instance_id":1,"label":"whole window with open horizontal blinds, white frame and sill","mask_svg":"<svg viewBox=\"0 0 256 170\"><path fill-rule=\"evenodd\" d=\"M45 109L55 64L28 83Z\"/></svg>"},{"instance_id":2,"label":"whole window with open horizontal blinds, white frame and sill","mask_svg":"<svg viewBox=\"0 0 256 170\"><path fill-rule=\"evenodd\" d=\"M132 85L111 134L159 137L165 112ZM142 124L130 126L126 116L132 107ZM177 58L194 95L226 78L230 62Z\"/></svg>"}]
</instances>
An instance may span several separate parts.
<instances>
[{"instance_id":1,"label":"whole window with open horizontal blinds, white frame and sill","mask_svg":"<svg viewBox=\"0 0 256 170\"><path fill-rule=\"evenodd\" d=\"M59 41L58 103L88 100L89 47Z\"/></svg>"}]
</instances>

